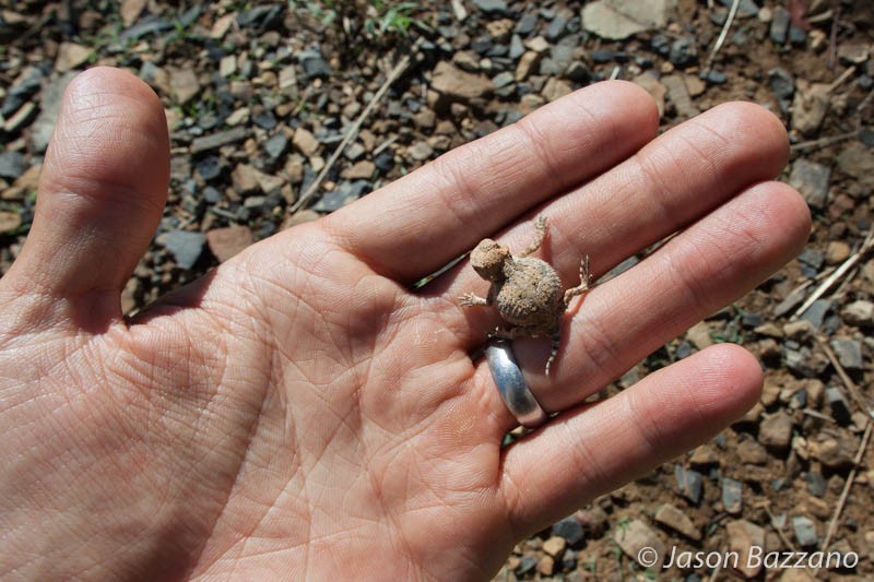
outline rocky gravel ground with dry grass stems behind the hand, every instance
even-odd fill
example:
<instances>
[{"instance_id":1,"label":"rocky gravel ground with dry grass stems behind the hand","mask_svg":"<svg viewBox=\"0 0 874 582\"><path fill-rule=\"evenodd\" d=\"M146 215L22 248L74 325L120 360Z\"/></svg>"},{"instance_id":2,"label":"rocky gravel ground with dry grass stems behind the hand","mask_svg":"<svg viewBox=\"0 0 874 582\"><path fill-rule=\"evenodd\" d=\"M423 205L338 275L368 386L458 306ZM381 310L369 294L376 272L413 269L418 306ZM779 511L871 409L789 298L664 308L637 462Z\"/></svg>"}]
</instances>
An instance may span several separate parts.
<instances>
[{"instance_id":1,"label":"rocky gravel ground with dry grass stems behind the hand","mask_svg":"<svg viewBox=\"0 0 874 582\"><path fill-rule=\"evenodd\" d=\"M129 313L253 241L604 79L652 94L663 129L730 99L761 104L790 133L782 178L811 206L806 249L606 392L735 342L761 361L761 401L712 442L520 544L497 579L653 579L637 561L643 546L663 559L672 548L752 546L858 556L818 571L675 563L665 580L874 577L870 1L205 7L2 3L0 273L27 235L63 87L96 64L146 81L170 128L169 203L125 289Z\"/></svg>"}]
</instances>

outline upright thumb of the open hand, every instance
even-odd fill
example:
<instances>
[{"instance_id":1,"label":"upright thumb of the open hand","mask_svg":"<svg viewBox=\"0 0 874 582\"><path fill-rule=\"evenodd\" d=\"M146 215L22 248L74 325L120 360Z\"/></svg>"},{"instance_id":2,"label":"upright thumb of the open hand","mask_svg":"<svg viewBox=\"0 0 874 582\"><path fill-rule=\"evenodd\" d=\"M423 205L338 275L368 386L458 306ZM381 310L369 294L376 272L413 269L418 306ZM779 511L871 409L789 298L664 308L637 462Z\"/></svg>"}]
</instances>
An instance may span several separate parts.
<instances>
[{"instance_id":1,"label":"upright thumb of the open hand","mask_svg":"<svg viewBox=\"0 0 874 582\"><path fill-rule=\"evenodd\" d=\"M33 227L0 290L28 297L44 323L120 318L121 288L154 235L168 179L154 92L117 69L80 74L46 153Z\"/></svg>"}]
</instances>

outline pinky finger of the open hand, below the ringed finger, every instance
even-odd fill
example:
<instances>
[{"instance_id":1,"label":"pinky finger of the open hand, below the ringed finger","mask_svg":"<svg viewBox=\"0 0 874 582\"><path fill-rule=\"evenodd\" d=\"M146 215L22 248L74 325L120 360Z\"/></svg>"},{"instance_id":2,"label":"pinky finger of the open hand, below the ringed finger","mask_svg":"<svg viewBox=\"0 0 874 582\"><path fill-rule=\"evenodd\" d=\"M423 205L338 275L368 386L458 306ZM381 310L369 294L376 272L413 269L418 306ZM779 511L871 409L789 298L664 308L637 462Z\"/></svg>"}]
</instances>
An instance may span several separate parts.
<instances>
[{"instance_id":1,"label":"pinky finger of the open hand, below the ringed finger","mask_svg":"<svg viewBox=\"0 0 874 582\"><path fill-rule=\"evenodd\" d=\"M500 490L517 536L539 531L712 438L761 391L745 349L710 347L507 449Z\"/></svg>"}]
</instances>

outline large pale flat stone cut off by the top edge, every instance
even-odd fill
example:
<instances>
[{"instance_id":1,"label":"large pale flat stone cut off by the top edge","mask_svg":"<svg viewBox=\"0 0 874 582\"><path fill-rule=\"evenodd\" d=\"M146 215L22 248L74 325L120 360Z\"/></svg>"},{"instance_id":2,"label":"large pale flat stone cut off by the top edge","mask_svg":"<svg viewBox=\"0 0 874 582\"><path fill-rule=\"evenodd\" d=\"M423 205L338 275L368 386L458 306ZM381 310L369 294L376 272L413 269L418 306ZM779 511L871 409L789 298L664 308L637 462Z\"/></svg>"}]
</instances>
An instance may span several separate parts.
<instances>
[{"instance_id":1,"label":"large pale flat stone cut off by the top edge","mask_svg":"<svg viewBox=\"0 0 874 582\"><path fill-rule=\"evenodd\" d=\"M582 27L602 38L621 40L663 28L675 5L675 0L595 0L582 7Z\"/></svg>"}]
</instances>

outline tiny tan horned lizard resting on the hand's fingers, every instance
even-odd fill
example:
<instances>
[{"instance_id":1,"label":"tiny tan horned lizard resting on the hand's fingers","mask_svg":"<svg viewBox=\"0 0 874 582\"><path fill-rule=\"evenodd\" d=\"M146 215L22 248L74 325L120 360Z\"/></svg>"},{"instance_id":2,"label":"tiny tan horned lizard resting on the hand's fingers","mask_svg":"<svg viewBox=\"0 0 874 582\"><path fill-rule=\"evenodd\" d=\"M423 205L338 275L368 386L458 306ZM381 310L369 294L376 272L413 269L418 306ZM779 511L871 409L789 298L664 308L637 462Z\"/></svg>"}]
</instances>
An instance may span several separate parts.
<instances>
[{"instance_id":1,"label":"tiny tan horned lizard resting on the hand's fingers","mask_svg":"<svg viewBox=\"0 0 874 582\"><path fill-rule=\"evenodd\" d=\"M546 236L546 218L534 222L538 231L534 241L518 257L510 254L505 245L491 238L483 239L471 252L471 265L486 281L492 282L486 298L465 293L459 297L461 305L495 305L500 317L511 326L496 328L489 337L512 340L528 336L552 336L553 346L546 360L546 375L550 365L558 353L562 314L570 300L589 290L589 258L580 264L580 284L569 289L562 288L562 280L548 263L528 256L536 251Z\"/></svg>"}]
</instances>

